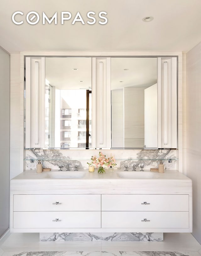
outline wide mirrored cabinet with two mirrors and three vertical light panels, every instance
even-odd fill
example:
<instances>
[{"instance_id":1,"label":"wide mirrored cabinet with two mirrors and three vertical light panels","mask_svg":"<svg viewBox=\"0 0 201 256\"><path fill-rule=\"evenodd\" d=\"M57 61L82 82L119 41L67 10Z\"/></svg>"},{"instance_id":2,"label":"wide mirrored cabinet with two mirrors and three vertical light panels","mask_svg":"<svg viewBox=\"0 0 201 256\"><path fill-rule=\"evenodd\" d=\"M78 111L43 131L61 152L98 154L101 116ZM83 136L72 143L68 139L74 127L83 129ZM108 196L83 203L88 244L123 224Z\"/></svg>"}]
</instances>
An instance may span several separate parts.
<instances>
[{"instance_id":1,"label":"wide mirrored cabinet with two mirrors and three vertical light panels","mask_svg":"<svg viewBox=\"0 0 201 256\"><path fill-rule=\"evenodd\" d=\"M25 57L24 148L177 148L176 57Z\"/></svg>"}]
</instances>

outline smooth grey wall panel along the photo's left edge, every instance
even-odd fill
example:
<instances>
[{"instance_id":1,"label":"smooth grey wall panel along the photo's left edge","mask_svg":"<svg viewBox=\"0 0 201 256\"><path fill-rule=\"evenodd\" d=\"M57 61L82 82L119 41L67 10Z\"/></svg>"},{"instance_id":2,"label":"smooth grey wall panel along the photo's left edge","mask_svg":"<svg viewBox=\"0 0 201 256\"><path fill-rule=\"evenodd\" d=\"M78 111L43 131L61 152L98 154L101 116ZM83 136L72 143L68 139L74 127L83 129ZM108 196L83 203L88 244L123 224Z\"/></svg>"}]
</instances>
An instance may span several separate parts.
<instances>
[{"instance_id":1,"label":"smooth grey wall panel along the photo's left edge","mask_svg":"<svg viewBox=\"0 0 201 256\"><path fill-rule=\"evenodd\" d=\"M10 55L0 48L0 237L9 228Z\"/></svg>"}]
</instances>

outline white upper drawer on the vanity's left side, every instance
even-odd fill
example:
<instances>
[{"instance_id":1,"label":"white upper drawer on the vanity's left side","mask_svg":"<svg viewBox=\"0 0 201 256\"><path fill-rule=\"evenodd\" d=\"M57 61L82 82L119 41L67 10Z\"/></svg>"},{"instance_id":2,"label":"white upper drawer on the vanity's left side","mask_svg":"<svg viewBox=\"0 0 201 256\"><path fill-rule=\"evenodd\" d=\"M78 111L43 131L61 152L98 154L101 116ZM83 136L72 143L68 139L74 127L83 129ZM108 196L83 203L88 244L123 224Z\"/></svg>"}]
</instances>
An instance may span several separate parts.
<instances>
[{"instance_id":1,"label":"white upper drawer on the vanity's left side","mask_svg":"<svg viewBox=\"0 0 201 256\"><path fill-rule=\"evenodd\" d=\"M18 211L100 211L100 195L14 195Z\"/></svg>"}]
</instances>

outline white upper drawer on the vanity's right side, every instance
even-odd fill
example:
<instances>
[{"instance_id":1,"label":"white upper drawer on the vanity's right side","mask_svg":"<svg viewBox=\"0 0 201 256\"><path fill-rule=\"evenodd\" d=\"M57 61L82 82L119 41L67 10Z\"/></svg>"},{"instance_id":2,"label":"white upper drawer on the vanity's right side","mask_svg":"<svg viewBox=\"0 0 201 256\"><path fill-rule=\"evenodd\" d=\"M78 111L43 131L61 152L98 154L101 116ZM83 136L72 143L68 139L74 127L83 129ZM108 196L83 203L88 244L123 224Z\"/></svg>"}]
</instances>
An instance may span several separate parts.
<instances>
[{"instance_id":1,"label":"white upper drawer on the vanity's right side","mask_svg":"<svg viewBox=\"0 0 201 256\"><path fill-rule=\"evenodd\" d=\"M188 195L102 195L102 211L188 211Z\"/></svg>"}]
</instances>

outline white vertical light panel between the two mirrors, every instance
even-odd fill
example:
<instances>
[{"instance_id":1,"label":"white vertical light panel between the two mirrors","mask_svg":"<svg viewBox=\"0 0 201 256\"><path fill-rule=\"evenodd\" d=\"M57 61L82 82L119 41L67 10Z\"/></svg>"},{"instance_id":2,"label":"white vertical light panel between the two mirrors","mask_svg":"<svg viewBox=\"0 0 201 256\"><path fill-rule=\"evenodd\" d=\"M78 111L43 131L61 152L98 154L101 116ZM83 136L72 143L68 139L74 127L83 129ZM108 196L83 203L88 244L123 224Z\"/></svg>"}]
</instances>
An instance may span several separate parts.
<instances>
[{"instance_id":1,"label":"white vertical light panel between the two mirrors","mask_svg":"<svg viewBox=\"0 0 201 256\"><path fill-rule=\"evenodd\" d=\"M111 58L92 58L92 148L111 148Z\"/></svg>"}]
</instances>

